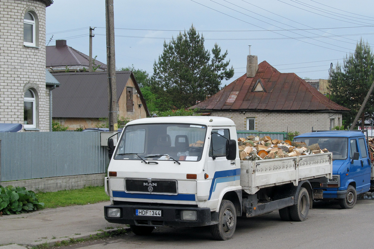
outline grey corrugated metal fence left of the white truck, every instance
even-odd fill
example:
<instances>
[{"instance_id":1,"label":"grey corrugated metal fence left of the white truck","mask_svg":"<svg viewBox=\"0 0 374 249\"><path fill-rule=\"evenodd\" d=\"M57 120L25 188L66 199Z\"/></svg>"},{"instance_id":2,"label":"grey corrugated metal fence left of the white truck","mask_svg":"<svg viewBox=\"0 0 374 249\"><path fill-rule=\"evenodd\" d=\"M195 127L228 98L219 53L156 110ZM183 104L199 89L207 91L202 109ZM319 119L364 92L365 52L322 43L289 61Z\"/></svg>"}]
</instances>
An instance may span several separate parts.
<instances>
[{"instance_id":1,"label":"grey corrugated metal fence left of the white truck","mask_svg":"<svg viewBox=\"0 0 374 249\"><path fill-rule=\"evenodd\" d=\"M1 181L104 173L99 132L0 133Z\"/></svg>"}]
</instances>

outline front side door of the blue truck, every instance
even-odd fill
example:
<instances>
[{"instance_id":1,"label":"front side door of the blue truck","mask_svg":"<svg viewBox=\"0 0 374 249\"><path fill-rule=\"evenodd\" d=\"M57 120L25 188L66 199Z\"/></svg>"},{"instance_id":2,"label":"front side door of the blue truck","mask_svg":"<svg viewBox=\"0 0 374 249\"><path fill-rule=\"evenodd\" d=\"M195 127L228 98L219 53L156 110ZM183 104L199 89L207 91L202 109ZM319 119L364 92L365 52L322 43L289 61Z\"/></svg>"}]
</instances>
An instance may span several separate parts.
<instances>
[{"instance_id":1,"label":"front side door of the blue truck","mask_svg":"<svg viewBox=\"0 0 374 249\"><path fill-rule=\"evenodd\" d=\"M353 178L356 183L356 192L360 192L362 190L362 180L364 179L362 176L362 157L360 155L359 160L353 160L353 153L359 152L358 146L357 146L357 139L352 138L350 140L350 161L351 164L349 166L349 172L348 173L348 179Z\"/></svg>"}]
</instances>

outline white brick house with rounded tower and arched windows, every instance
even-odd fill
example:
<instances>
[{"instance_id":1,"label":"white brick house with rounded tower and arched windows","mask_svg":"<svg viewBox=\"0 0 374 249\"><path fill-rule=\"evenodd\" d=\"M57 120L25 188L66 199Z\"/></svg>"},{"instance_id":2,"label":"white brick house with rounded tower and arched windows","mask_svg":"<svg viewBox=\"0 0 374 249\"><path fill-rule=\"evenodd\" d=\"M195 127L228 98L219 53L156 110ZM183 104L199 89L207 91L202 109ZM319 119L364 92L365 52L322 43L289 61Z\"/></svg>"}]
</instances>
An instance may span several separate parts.
<instances>
[{"instance_id":1,"label":"white brick house with rounded tower and arched windows","mask_svg":"<svg viewBox=\"0 0 374 249\"><path fill-rule=\"evenodd\" d=\"M0 0L0 122L50 130L46 7L52 0Z\"/></svg>"}]
</instances>

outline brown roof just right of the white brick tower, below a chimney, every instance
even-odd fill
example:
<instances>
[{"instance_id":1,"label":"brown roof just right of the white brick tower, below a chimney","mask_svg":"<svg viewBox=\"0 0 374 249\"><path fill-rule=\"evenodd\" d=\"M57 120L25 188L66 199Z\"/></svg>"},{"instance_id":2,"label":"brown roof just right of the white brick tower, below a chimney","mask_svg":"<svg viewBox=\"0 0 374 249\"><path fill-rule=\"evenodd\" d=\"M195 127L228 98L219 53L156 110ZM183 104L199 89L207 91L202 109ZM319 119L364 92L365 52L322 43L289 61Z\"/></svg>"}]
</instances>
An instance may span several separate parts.
<instances>
[{"instance_id":1,"label":"brown roof just right of the white brick tower, below a chimney","mask_svg":"<svg viewBox=\"0 0 374 249\"><path fill-rule=\"evenodd\" d=\"M94 60L95 65L101 65L99 68L102 70L107 69L107 65L98 60ZM47 46L46 47L46 68L61 67L72 68L74 66L89 68L89 56L70 46L64 45L62 47Z\"/></svg>"}]
</instances>

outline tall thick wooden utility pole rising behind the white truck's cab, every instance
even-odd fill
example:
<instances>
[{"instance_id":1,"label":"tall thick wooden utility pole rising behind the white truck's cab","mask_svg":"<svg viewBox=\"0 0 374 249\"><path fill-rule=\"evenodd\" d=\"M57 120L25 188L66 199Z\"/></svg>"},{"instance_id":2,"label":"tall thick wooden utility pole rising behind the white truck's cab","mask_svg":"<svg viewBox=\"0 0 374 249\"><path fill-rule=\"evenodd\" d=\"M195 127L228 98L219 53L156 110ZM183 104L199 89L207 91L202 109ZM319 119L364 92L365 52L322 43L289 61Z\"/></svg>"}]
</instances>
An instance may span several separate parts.
<instances>
[{"instance_id":1,"label":"tall thick wooden utility pole rising behind the white truck's cab","mask_svg":"<svg viewBox=\"0 0 374 249\"><path fill-rule=\"evenodd\" d=\"M114 6L113 0L105 0L105 19L107 35L107 72L108 72L108 109L109 131L116 131L117 124L117 87L116 57L114 50Z\"/></svg>"}]
</instances>

